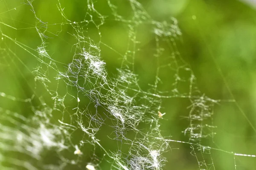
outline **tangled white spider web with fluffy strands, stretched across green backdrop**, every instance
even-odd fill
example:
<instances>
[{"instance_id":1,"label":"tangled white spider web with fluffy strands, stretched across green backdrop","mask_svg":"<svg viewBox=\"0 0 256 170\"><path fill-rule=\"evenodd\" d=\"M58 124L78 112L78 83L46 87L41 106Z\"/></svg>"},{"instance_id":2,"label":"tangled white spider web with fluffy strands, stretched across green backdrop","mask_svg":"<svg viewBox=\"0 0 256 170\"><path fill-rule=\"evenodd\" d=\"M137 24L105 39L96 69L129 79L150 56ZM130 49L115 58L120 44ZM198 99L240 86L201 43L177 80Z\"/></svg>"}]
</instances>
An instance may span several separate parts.
<instances>
[{"instance_id":1,"label":"tangled white spider web with fluffy strands, stretched across green backdrop","mask_svg":"<svg viewBox=\"0 0 256 170\"><path fill-rule=\"evenodd\" d=\"M40 0L0 0L1 65L12 68L1 73L10 81L0 93L1 169L172 169L174 144L190 147L200 170L217 169L212 151L233 169L237 156L255 157L208 145L221 100L198 89L175 18L154 20L137 0L75 3L72 12L46 0L49 16ZM162 135L168 99L188 101L184 140Z\"/></svg>"}]
</instances>

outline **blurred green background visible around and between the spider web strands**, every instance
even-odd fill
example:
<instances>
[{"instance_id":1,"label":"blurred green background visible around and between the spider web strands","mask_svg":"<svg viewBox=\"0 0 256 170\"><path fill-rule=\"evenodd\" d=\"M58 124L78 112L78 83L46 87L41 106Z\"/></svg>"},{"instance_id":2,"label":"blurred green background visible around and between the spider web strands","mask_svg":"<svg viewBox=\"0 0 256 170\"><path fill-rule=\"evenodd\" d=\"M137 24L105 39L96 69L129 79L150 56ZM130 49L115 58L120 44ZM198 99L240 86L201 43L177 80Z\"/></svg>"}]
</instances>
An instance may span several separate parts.
<instances>
[{"instance_id":1,"label":"blurred green background visible around and between the spider web strands","mask_svg":"<svg viewBox=\"0 0 256 170\"><path fill-rule=\"evenodd\" d=\"M62 8L65 7L64 12L69 20L79 22L87 20L87 17L90 18L90 16L85 17L86 1L60 0L60 2ZM198 88L206 96L222 100L213 109L212 118L213 125L217 126L214 129L216 135L206 142L210 147L223 150L212 151L214 167L211 169L234 170L234 156L224 151L256 154L256 131L253 130L253 127L256 127L255 8L236 0L140 0L139 2L154 20L162 22L170 20L170 17L177 19L182 36L177 37L175 42L181 57L192 68ZM129 17L132 10L128 2L122 0L115 3L118 4L120 14ZM75 50L72 45L76 40L72 36L73 28L68 24L60 24L65 21L58 11L58 1L35 0L32 4L37 16L47 22L49 55L57 61L70 63L71 54ZM95 8L102 15L107 16L111 13L108 4L103 0L95 1ZM33 49L41 44L41 40L35 30L35 23L38 21L35 20L30 9L31 7L22 0L0 0L0 38L1 34L5 34L13 39L2 36L3 40L0 40L0 91L22 99L30 98L35 93L32 90L35 87L32 71L40 65L32 55L36 55ZM99 20L95 22L99 23ZM85 35L89 35L95 42L99 41L98 30L93 24L83 29ZM156 73L152 68L157 66L148 57L152 56L150 50L155 48L152 43L154 36L148 34L150 28L147 26L142 26L141 29L142 31L137 35L143 50L138 52L135 58L135 73L139 75L142 89L146 90L148 83L154 83ZM40 31L45 30L43 26ZM106 23L100 27L100 32L102 42L124 55L127 50L128 31L122 22L114 22L113 18L108 17ZM15 44L15 40L22 44L23 48ZM106 45L99 46L102 50L102 59L107 63L106 68L111 76L116 74L116 68L120 68L122 57ZM170 55L171 52L167 51L166 55ZM60 64L58 69L64 71L65 68ZM163 79L166 83L163 89L172 90L171 84L174 81L172 74L168 72L163 74L166 77ZM51 85L54 87L54 83ZM66 90L64 86L60 87L59 91L61 89ZM44 95L45 90L39 86L36 93L37 96L41 96ZM225 102L228 99L235 99L236 102ZM73 105L76 104L70 102L70 108ZM182 132L189 125L189 121L182 118L188 116L188 106L188 99L163 99L161 112L166 113L164 119L160 121L163 136L172 136L173 140L188 142L187 136ZM2 97L0 107L26 117L31 116L29 105L24 105L22 102L14 102ZM101 140L104 138L102 137ZM190 153L191 148L188 144L171 142L170 147L172 149L164 153L167 159L166 170L198 169L198 161ZM256 158L236 156L236 165L237 170L254 170ZM105 169L108 169L107 167L108 165Z\"/></svg>"}]
</instances>

